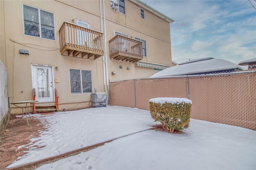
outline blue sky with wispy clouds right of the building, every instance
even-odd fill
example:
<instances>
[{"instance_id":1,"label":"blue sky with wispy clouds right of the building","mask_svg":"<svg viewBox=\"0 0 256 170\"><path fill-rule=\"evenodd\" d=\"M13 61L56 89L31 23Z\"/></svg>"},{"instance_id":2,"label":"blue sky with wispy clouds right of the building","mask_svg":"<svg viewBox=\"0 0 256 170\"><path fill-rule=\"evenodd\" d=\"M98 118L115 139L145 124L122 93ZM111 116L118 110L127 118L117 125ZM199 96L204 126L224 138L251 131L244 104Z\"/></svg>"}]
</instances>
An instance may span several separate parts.
<instances>
[{"instance_id":1,"label":"blue sky with wispy clouds right of the building","mask_svg":"<svg viewBox=\"0 0 256 170\"><path fill-rule=\"evenodd\" d=\"M172 18L172 61L214 57L238 64L256 57L256 2L250 0L142 0ZM146 17L146 16L145 16Z\"/></svg>"}]
</instances>

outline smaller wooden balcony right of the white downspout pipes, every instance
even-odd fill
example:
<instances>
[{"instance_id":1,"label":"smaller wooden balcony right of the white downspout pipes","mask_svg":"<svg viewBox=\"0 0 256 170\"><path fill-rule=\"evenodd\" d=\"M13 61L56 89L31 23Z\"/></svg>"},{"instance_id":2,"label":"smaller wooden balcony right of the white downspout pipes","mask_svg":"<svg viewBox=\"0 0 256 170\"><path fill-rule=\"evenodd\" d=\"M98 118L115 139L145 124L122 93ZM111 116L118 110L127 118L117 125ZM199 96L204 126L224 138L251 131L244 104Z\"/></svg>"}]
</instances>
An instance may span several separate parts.
<instances>
[{"instance_id":1,"label":"smaller wooden balcony right of the white downspout pipes","mask_svg":"<svg viewBox=\"0 0 256 170\"><path fill-rule=\"evenodd\" d=\"M122 35L109 41L110 59L136 62L143 59L142 42Z\"/></svg>"}]
</instances>

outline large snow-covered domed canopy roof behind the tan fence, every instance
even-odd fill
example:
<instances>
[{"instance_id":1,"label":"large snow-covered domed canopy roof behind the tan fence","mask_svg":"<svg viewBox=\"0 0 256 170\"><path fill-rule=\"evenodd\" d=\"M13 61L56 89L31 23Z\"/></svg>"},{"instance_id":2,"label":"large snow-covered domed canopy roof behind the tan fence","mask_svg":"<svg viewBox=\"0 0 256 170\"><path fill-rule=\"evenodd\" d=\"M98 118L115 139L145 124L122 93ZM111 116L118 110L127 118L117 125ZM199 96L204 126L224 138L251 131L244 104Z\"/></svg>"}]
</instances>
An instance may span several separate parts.
<instances>
[{"instance_id":1,"label":"large snow-covered domed canopy roof behind the tan fence","mask_svg":"<svg viewBox=\"0 0 256 170\"><path fill-rule=\"evenodd\" d=\"M194 74L209 74L215 72L228 72L236 70L245 70L241 66L223 59L206 57L180 63L177 66L166 68L150 78L162 78L168 76L182 76Z\"/></svg>"}]
</instances>

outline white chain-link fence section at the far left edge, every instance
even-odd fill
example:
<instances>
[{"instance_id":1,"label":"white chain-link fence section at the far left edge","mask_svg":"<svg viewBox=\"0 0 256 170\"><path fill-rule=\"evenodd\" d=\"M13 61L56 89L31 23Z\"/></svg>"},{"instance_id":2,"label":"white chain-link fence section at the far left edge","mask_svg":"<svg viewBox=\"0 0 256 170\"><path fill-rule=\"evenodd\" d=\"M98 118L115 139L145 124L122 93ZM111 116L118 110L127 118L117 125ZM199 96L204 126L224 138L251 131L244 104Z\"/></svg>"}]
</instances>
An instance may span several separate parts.
<instances>
[{"instance_id":1,"label":"white chain-link fence section at the far left edge","mask_svg":"<svg viewBox=\"0 0 256 170\"><path fill-rule=\"evenodd\" d=\"M7 69L0 61L0 121L9 109L8 104Z\"/></svg>"}]
</instances>

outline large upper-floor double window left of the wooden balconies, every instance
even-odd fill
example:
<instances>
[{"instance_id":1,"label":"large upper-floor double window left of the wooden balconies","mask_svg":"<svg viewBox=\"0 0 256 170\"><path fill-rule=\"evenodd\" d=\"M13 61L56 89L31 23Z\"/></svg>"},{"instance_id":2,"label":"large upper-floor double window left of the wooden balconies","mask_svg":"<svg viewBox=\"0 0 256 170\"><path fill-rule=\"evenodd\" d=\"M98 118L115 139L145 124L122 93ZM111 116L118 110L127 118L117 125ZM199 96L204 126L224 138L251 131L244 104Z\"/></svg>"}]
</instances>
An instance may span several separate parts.
<instances>
[{"instance_id":1,"label":"large upper-floor double window left of the wooden balconies","mask_svg":"<svg viewBox=\"0 0 256 170\"><path fill-rule=\"evenodd\" d=\"M24 34L55 40L54 14L23 4Z\"/></svg>"}]
</instances>

